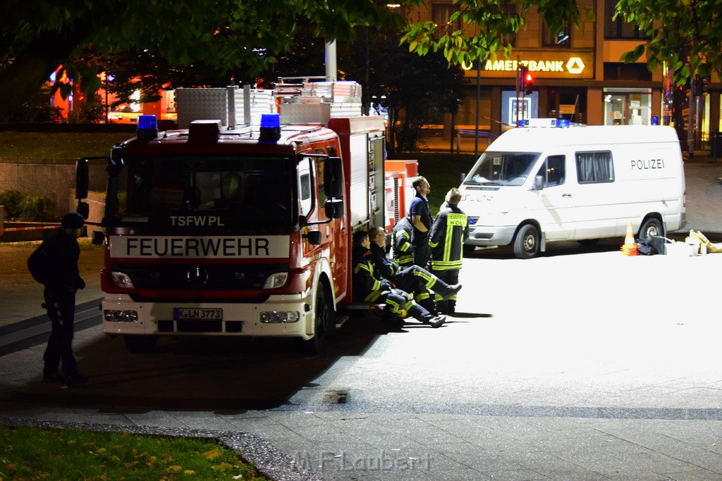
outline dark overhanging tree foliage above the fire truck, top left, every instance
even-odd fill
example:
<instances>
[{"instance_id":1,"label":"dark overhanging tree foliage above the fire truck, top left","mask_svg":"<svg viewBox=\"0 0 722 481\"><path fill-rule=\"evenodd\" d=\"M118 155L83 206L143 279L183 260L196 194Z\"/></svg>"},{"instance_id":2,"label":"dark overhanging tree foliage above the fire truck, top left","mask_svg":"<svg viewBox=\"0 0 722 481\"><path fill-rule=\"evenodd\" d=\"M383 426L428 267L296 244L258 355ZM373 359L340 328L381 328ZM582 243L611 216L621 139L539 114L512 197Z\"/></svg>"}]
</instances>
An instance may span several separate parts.
<instances>
[{"instance_id":1,"label":"dark overhanging tree foliage above the fire truck, top left","mask_svg":"<svg viewBox=\"0 0 722 481\"><path fill-rule=\"evenodd\" d=\"M414 2L417 0L406 0ZM349 39L357 25L399 25L374 0L10 0L0 23L0 119L37 92L60 64L99 87L84 53L149 54L168 66L263 70L290 48L299 20L314 34Z\"/></svg>"}]
</instances>

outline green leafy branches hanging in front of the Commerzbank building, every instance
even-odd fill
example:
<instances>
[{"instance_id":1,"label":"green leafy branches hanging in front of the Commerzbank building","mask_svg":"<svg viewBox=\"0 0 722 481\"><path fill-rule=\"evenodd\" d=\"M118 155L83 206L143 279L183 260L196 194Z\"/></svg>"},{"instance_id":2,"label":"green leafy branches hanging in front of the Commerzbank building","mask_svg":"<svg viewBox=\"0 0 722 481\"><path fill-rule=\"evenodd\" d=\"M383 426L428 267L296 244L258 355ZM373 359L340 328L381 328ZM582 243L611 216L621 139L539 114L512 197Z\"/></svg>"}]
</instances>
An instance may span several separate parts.
<instances>
[{"instance_id":1,"label":"green leafy branches hanging in front of the Commerzbank building","mask_svg":"<svg viewBox=\"0 0 722 481\"><path fill-rule=\"evenodd\" d=\"M441 51L450 63L470 65L497 54L511 53L505 42L526 25L525 16L535 6L550 30L560 31L567 21L580 25L583 15L593 19L593 9L580 9L577 0L516 0L516 14L509 15L508 0L455 0L456 12L448 23L422 22L409 25L402 43L425 55ZM722 73L722 10L719 0L619 0L616 15L646 33L651 40L625 53L621 60L637 61L646 54L649 69L663 61L675 71L677 84L698 72ZM472 35L456 29L474 25Z\"/></svg>"}]
</instances>

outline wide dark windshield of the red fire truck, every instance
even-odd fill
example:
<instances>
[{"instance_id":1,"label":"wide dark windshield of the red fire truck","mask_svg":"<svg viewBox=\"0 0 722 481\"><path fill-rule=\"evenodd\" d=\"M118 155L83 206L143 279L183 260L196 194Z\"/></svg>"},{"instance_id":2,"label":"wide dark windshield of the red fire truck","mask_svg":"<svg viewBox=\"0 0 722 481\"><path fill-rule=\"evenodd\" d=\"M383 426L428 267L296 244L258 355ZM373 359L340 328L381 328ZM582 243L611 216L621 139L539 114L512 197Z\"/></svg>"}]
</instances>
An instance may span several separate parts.
<instances>
[{"instance_id":1,"label":"wide dark windshield of the red fire truck","mask_svg":"<svg viewBox=\"0 0 722 481\"><path fill-rule=\"evenodd\" d=\"M297 224L295 165L288 157L173 156L124 161L108 192L108 202L113 203L115 190L116 215L121 219L207 215L222 219L225 226L263 231Z\"/></svg>"}]
</instances>

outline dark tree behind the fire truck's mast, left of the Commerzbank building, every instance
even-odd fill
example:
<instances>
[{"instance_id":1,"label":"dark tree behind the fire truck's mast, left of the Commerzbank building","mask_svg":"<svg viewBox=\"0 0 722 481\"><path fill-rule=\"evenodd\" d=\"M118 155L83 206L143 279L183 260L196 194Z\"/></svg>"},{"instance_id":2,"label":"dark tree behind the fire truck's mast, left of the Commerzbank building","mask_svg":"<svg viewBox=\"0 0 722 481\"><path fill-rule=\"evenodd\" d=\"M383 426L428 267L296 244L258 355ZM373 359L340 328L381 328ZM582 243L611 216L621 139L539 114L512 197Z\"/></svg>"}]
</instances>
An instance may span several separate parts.
<instances>
[{"instance_id":1,"label":"dark tree behind the fire truck's mast, left of the Commerzbank building","mask_svg":"<svg viewBox=\"0 0 722 481\"><path fill-rule=\"evenodd\" d=\"M362 84L362 104L388 112L392 126L387 138L388 155L415 151L430 112L458 109L464 74L449 66L439 53L417 56L399 45L399 28L357 27L355 41L339 42L339 74ZM323 72L324 42L309 28L299 29L292 53L277 58L273 69L261 76L265 82L279 76L306 76ZM377 112L371 111L375 114Z\"/></svg>"}]
</instances>

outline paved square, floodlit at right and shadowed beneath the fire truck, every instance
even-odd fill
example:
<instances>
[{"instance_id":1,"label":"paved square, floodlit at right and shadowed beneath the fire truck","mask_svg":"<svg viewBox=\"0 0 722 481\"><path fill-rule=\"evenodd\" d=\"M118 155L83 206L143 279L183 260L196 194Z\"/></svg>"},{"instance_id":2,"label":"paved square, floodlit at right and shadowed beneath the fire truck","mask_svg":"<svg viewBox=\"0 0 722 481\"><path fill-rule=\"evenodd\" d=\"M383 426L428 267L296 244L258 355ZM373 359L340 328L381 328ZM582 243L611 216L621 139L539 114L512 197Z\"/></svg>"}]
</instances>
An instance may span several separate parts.
<instances>
[{"instance_id":1,"label":"paved square, floodlit at right and shadowed beneath the fire truck","mask_svg":"<svg viewBox=\"0 0 722 481\"><path fill-rule=\"evenodd\" d=\"M618 239L479 252L440 329L356 317L318 357L210 338L133 355L90 327L85 387L40 381L42 345L2 357L0 418L252 433L329 480L721 479L720 268Z\"/></svg>"}]
</instances>

